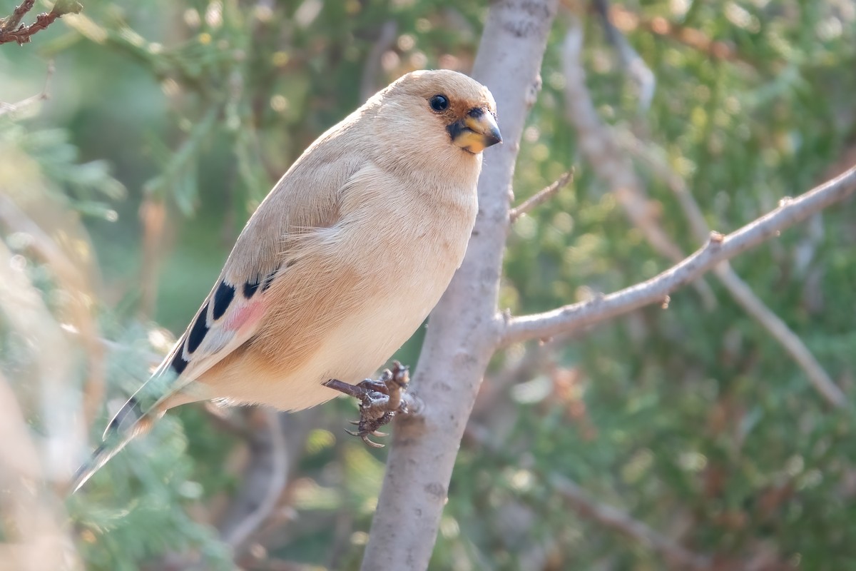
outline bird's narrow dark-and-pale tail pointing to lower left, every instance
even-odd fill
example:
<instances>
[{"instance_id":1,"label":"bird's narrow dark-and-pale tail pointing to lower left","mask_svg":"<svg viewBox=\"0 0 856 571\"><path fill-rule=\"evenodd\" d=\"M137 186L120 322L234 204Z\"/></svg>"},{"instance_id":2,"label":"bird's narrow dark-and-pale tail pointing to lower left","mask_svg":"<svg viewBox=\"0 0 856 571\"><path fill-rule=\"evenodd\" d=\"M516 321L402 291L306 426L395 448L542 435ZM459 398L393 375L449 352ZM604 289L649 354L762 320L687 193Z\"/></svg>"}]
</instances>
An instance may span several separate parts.
<instances>
[{"instance_id":1,"label":"bird's narrow dark-and-pale tail pointing to lower left","mask_svg":"<svg viewBox=\"0 0 856 571\"><path fill-rule=\"evenodd\" d=\"M71 493L80 490L80 486L86 484L86 480L92 478L92 474L98 472L134 437L148 431L154 421L161 416L163 416L163 408L151 407L144 413L137 396L129 398L107 425L101 445L74 473L70 483Z\"/></svg>"}]
</instances>

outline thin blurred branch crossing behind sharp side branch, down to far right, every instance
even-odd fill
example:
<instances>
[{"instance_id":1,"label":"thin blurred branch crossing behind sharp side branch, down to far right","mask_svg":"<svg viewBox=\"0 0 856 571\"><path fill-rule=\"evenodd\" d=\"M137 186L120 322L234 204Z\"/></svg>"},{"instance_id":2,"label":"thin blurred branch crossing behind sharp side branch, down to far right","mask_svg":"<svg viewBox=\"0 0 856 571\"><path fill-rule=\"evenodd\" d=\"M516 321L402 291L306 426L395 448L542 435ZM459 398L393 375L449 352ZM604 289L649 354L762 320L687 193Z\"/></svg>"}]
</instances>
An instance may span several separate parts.
<instances>
[{"instance_id":1,"label":"thin blurred branch crossing behind sharp side branch, down to far right","mask_svg":"<svg viewBox=\"0 0 856 571\"><path fill-rule=\"evenodd\" d=\"M693 232L698 236L699 241L704 241L706 236L710 235L710 228L704 222L704 215L698 207L698 202L693 198L693 193L689 192L686 183L680 175L669 168L668 164L656 158L651 152L650 144L643 144L642 141L630 136L629 134L622 140L628 150L644 158L657 175L665 179L672 192L678 197L681 203L681 208L687 216ZM811 351L805 347L799 336L788 327L775 312L764 305L764 301L758 298L758 295L752 291L746 282L740 279L740 276L734 271L728 262L722 262L714 268L716 277L719 278L722 285L728 288L728 292L734 298L744 311L755 318L764 329L770 332L776 341L782 344L782 347L788 351L797 364L802 367L809 382L814 385L815 389L834 407L847 406L847 397L838 386L833 382L832 378L823 366L817 362Z\"/></svg>"}]
</instances>

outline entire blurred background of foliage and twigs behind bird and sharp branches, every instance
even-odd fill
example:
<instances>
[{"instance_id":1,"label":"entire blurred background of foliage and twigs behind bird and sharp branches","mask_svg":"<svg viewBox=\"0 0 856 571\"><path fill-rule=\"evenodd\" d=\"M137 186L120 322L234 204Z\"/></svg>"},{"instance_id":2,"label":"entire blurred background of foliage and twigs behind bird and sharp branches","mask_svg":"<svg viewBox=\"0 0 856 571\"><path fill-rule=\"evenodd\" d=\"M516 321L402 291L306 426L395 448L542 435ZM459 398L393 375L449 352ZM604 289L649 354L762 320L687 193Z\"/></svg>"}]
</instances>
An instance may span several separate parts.
<instances>
[{"instance_id":1,"label":"entire blurred background of foliage and twigs behind bird and sharp branches","mask_svg":"<svg viewBox=\"0 0 856 571\"><path fill-rule=\"evenodd\" d=\"M345 399L181 407L62 485L288 165L399 75L467 72L488 3L82 3L0 46L0 569L359 568L386 452ZM515 202L575 180L514 223L501 308L638 283L856 163L854 39L852 0L562 3ZM849 200L498 354L431 569L856 568L854 259Z\"/></svg>"}]
</instances>

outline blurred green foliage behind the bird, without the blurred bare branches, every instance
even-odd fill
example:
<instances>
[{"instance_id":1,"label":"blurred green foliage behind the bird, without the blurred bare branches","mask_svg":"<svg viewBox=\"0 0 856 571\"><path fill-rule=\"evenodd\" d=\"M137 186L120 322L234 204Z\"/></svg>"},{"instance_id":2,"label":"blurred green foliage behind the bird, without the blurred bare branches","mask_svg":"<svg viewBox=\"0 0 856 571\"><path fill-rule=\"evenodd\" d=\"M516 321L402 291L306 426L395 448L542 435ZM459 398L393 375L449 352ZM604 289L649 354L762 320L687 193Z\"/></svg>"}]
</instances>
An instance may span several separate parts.
<instances>
[{"instance_id":1,"label":"blurred green foliage behind the bird, without the blurred bare branches","mask_svg":"<svg viewBox=\"0 0 856 571\"><path fill-rule=\"evenodd\" d=\"M846 3L653 0L621 8L636 18L627 39L657 91L639 109L614 46L586 15L597 112L683 177L711 228L737 229L853 162L856 20ZM24 50L0 49L3 100L38 92L45 60L56 65L38 115L30 108L0 117L0 193L21 199L38 187L82 215L101 275L93 295L99 330L122 347L105 363L108 401L120 401L146 377L146 353L169 344L168 333L138 317L137 300L153 293L146 288L158 293L150 318L180 333L249 213L294 158L366 91L399 74L469 68L487 6L91 0L85 9ZM730 58L651 32L645 23L656 17L719 42ZM378 45L384 25L395 36ZM571 166L576 178L512 229L500 301L515 313L613 291L669 265L580 158L564 111L565 30L560 19L544 57L515 201ZM692 252L698 241L667 182L633 160L660 227ZM141 205L165 212L152 283L137 279L147 255L140 244L152 238ZM733 263L851 401L853 219L850 201ZM14 253L38 258L5 230ZM53 299L50 265L32 263L27 272ZM575 511L556 476L723 568L753 558L767 568L853 568L853 411L830 410L716 278L705 282L715 308L695 289L681 290L668 310L645 309L564 344L544 371L521 372L502 406L477 411L489 443L466 440L461 449L432 569L663 568L650 546ZM415 362L420 336L402 349L405 362ZM494 376L523 350L497 357ZM0 372L12 378L29 349L5 321L0 351ZM27 402L32 389L24 385L15 392ZM305 443L290 443L305 451L282 505L257 538L261 558L358 568L383 452L342 434L352 403L311 414ZM92 424L93 441L106 418ZM168 415L68 500L86 568L158 568L176 553L232 568L215 529L222 514L211 506L234 497L247 448L200 408ZM239 557L247 568L258 559Z\"/></svg>"}]
</instances>

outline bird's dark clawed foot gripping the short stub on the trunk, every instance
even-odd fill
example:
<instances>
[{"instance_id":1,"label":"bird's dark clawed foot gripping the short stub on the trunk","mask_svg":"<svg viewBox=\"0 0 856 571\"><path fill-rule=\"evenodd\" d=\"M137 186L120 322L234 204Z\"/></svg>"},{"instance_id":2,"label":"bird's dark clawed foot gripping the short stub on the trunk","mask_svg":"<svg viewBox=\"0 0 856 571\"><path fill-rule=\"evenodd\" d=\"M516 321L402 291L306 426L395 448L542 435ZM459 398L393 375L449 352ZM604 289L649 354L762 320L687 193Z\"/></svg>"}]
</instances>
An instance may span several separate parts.
<instances>
[{"instance_id":1,"label":"bird's dark clawed foot gripping the short stub on the trunk","mask_svg":"<svg viewBox=\"0 0 856 571\"><path fill-rule=\"evenodd\" d=\"M386 433L377 429L388 424L395 414L410 412L407 398L409 382L408 367L393 361L392 371L384 369L377 380L366 378L365 381L354 385L332 378L324 383L324 386L360 399L360 420L351 421L357 426L357 430L347 432L362 438L363 442L372 448L383 448L383 444L373 442L369 437L386 436Z\"/></svg>"}]
</instances>

